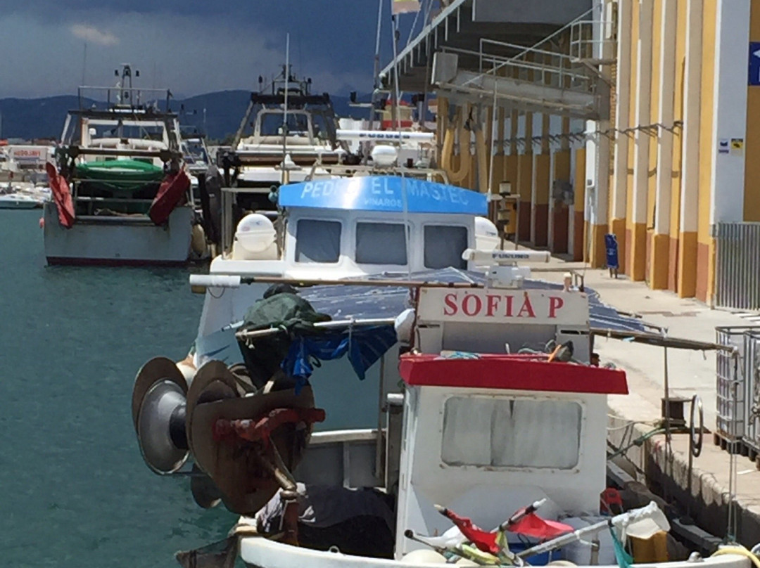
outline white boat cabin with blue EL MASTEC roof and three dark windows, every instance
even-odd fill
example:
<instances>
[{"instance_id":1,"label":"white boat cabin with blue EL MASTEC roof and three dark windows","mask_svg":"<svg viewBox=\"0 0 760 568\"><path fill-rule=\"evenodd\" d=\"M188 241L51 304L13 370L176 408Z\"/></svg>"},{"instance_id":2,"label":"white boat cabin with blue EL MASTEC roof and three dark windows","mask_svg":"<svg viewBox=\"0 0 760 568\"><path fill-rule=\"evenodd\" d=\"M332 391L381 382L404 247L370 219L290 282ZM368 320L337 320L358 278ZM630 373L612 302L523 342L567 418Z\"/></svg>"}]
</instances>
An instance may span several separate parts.
<instances>
[{"instance_id":1,"label":"white boat cabin with blue EL MASTEC roof and three dark windows","mask_svg":"<svg viewBox=\"0 0 760 568\"><path fill-rule=\"evenodd\" d=\"M283 185L275 222L249 213L233 230L229 201L235 195L234 188L223 190L223 240L230 252L214 258L212 276L345 279L468 269L473 265L462 258L465 249L479 240L489 248L498 243L492 225L479 217L487 213L484 194L424 179L366 175ZM209 288L198 341L242 320L268 286Z\"/></svg>"}]
</instances>

